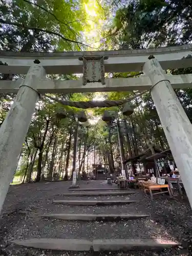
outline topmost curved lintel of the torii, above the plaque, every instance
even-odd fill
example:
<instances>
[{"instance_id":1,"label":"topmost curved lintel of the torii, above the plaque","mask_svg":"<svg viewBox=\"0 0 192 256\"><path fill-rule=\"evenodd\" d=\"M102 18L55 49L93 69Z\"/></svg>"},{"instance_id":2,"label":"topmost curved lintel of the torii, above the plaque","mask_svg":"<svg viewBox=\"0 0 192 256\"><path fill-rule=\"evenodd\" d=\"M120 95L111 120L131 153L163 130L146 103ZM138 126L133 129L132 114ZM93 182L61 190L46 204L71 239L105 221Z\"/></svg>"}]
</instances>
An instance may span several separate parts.
<instances>
[{"instance_id":1,"label":"topmost curved lintel of the torii, above the plaque","mask_svg":"<svg viewBox=\"0 0 192 256\"><path fill-rule=\"evenodd\" d=\"M35 59L40 61L47 74L82 73L82 56L106 56L104 70L110 72L141 71L150 55L154 55L163 69L191 67L192 44L119 51L89 52L6 52L0 51L0 60L8 66L0 65L0 73L26 74Z\"/></svg>"}]
</instances>

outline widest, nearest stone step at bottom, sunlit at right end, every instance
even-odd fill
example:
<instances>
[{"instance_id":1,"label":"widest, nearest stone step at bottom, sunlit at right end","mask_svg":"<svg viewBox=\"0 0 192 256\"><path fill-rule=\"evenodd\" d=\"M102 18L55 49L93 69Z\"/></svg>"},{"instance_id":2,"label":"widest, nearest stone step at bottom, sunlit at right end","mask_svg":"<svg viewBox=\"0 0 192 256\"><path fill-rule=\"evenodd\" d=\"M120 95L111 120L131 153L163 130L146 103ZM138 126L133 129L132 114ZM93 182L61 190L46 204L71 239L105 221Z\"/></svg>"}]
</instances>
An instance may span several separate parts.
<instances>
[{"instance_id":1,"label":"widest, nearest stone step at bottom, sunlit at right end","mask_svg":"<svg viewBox=\"0 0 192 256\"><path fill-rule=\"evenodd\" d=\"M101 239L90 241L82 239L33 238L28 240L14 240L11 242L26 247L62 251L162 250L179 245L174 241L157 239Z\"/></svg>"}]
</instances>

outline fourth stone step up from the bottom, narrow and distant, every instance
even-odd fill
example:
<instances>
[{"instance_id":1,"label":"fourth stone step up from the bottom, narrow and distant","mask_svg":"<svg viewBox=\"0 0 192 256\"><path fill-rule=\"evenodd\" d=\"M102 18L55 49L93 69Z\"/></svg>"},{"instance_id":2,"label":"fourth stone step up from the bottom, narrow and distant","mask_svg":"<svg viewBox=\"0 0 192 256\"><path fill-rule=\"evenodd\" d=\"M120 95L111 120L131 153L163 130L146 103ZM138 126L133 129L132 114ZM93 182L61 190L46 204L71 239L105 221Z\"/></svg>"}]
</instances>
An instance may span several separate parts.
<instances>
[{"instance_id":1,"label":"fourth stone step up from the bottom, narrow and distant","mask_svg":"<svg viewBox=\"0 0 192 256\"><path fill-rule=\"evenodd\" d=\"M119 192L98 192L98 193L65 193L57 196L66 196L66 197L91 197L91 196L123 196L135 194L135 191L119 191Z\"/></svg>"}]
</instances>

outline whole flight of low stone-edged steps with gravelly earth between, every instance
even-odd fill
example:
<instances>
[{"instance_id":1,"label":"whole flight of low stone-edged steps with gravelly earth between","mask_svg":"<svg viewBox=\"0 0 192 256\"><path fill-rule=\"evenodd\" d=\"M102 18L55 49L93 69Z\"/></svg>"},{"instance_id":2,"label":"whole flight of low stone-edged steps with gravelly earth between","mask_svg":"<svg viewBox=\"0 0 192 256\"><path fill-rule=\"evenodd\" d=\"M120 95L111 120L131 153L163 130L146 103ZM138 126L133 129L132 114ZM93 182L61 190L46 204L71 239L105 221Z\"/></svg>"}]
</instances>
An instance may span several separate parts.
<instances>
[{"instance_id":1,"label":"whole flight of low stone-edged steps with gravelly earth between","mask_svg":"<svg viewBox=\"0 0 192 256\"><path fill-rule=\"evenodd\" d=\"M142 197L138 190L119 190L107 184L105 188L70 189L35 212L39 232L11 242L44 250L82 251L84 255L102 251L145 255L146 250L177 248L179 244L151 220ZM140 251L144 254L138 254Z\"/></svg>"}]
</instances>

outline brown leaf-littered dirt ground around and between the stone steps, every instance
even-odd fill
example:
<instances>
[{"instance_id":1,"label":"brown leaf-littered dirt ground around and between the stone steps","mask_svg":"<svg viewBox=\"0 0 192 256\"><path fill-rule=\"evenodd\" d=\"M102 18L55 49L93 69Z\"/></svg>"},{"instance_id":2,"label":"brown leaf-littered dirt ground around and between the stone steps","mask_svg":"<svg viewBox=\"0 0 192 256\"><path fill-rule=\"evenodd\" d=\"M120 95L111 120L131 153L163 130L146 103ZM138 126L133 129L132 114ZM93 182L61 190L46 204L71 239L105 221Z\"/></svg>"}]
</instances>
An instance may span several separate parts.
<instances>
[{"instance_id":1,"label":"brown leaf-littered dirt ground around and between the stone steps","mask_svg":"<svg viewBox=\"0 0 192 256\"><path fill-rule=\"evenodd\" d=\"M158 195L151 200L136 189L136 194L102 197L63 197L70 193L71 181L10 186L3 208L0 228L0 256L90 256L93 252L59 252L25 248L12 240L29 238L62 239L162 239L181 244L161 252L103 252L98 255L167 256L192 255L192 210L186 197L177 200ZM106 181L80 181L80 188L109 188ZM117 187L113 185L113 187ZM53 204L53 200L137 200L126 205L73 206ZM119 222L79 222L42 219L45 213L65 214L150 214L146 219Z\"/></svg>"}]
</instances>

